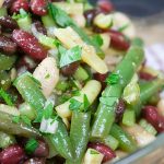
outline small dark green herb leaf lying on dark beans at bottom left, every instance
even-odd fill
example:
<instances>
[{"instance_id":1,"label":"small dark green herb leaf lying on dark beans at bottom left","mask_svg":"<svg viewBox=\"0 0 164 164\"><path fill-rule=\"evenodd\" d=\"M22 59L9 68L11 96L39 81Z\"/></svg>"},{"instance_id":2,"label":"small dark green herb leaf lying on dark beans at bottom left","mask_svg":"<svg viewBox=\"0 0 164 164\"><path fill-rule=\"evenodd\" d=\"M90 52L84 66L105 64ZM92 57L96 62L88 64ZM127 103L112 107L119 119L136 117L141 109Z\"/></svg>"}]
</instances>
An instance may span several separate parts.
<instances>
[{"instance_id":1,"label":"small dark green herb leaf lying on dark beans at bottom left","mask_svg":"<svg viewBox=\"0 0 164 164\"><path fill-rule=\"evenodd\" d=\"M30 139L25 145L27 154L32 154L38 147L38 142L35 139Z\"/></svg>"}]
</instances>

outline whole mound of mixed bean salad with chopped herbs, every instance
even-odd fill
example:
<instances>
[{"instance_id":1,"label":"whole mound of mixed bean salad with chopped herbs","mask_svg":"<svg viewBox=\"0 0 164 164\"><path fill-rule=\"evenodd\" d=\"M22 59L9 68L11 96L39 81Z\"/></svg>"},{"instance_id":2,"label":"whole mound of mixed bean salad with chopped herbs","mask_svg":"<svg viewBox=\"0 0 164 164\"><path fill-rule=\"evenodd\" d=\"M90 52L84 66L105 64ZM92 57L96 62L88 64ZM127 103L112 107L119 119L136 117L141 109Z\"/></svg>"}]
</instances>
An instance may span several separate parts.
<instances>
[{"instance_id":1,"label":"whole mound of mixed bean salad with chopped herbs","mask_svg":"<svg viewBox=\"0 0 164 164\"><path fill-rule=\"evenodd\" d=\"M0 7L1 164L113 163L164 131L163 74L109 1Z\"/></svg>"}]
</instances>

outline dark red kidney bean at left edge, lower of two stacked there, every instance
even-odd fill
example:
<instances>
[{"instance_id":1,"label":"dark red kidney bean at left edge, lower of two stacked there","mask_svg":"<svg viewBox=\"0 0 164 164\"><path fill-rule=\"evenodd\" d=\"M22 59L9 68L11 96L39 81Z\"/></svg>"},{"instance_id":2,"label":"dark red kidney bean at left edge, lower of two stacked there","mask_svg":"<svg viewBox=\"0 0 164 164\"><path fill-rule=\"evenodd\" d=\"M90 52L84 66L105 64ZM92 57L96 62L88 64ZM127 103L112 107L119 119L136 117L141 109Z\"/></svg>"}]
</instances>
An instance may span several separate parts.
<instances>
[{"instance_id":1,"label":"dark red kidney bean at left edge, lower of two stacked there","mask_svg":"<svg viewBox=\"0 0 164 164\"><path fill-rule=\"evenodd\" d=\"M0 51L12 55L16 51L16 44L9 37L0 35Z\"/></svg>"}]
</instances>

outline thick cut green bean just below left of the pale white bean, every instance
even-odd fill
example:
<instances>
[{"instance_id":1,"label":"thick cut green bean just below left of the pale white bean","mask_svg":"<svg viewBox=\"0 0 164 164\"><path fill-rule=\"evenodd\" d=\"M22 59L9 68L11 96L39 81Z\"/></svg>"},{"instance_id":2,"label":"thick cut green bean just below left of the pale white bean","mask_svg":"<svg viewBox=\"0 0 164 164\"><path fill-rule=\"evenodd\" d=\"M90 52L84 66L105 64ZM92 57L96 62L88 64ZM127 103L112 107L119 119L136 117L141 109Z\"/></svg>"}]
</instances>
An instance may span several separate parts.
<instances>
[{"instance_id":1,"label":"thick cut green bean just below left of the pale white bean","mask_svg":"<svg viewBox=\"0 0 164 164\"><path fill-rule=\"evenodd\" d=\"M42 116L42 109L44 108L46 98L42 93L39 82L30 73L24 73L19 77L13 84L25 102L37 112L37 117Z\"/></svg>"}]
</instances>

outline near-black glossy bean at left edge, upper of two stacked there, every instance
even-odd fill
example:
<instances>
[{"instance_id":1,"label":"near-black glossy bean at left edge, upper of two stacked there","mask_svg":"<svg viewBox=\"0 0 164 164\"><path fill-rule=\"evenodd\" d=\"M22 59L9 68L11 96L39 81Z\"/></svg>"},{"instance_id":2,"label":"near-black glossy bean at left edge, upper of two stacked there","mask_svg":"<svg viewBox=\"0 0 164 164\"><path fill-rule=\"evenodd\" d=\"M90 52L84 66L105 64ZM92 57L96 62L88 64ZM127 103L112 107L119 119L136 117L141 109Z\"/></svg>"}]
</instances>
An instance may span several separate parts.
<instances>
[{"instance_id":1,"label":"near-black glossy bean at left edge, upper of two stacked there","mask_svg":"<svg viewBox=\"0 0 164 164\"><path fill-rule=\"evenodd\" d=\"M16 21L13 20L11 16L1 16L0 25L2 26L2 28L10 30L10 31L19 28Z\"/></svg>"}]
</instances>

